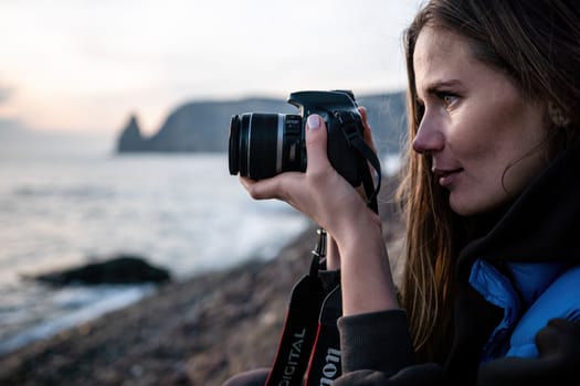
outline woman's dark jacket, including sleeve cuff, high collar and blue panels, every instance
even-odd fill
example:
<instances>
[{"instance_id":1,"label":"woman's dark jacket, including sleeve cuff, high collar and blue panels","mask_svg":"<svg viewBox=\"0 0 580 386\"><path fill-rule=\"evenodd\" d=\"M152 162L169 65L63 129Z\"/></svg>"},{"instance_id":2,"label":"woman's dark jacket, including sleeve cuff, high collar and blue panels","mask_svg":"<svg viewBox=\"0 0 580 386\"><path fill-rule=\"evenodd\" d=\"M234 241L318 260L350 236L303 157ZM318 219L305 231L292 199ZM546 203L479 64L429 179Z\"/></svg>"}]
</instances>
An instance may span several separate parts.
<instances>
[{"instance_id":1,"label":"woman's dark jacket, including sleeve cuff, high collar and blue panels","mask_svg":"<svg viewBox=\"0 0 580 386\"><path fill-rule=\"evenodd\" d=\"M580 151L570 150L530 184L491 232L461 251L455 326L445 363L414 362L402 310L346 317L339 321L344 372L334 385L579 385L580 322L573 321L578 310L562 317L548 300L548 311L539 308L525 317L550 283L580 264L579 238ZM492 271L499 276L486 278ZM517 303L515 309L494 301L505 292L495 280L505 280L506 291L513 290L515 300L508 303ZM558 299L561 288L549 299ZM578 291L566 292L578 304ZM524 332L519 322L527 323ZM539 331L530 332L535 326Z\"/></svg>"}]
</instances>

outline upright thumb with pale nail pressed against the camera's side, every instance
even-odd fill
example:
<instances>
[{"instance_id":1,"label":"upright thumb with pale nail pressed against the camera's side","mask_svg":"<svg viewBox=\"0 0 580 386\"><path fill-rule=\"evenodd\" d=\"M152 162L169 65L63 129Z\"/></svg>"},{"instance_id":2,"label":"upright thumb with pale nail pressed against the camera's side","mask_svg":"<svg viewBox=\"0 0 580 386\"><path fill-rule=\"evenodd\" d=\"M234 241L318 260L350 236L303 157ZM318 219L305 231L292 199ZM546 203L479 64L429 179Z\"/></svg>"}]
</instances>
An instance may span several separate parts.
<instances>
[{"instance_id":1,"label":"upright thumb with pale nail pressed against the camera's side","mask_svg":"<svg viewBox=\"0 0 580 386\"><path fill-rule=\"evenodd\" d=\"M318 174L328 169L327 130L319 115L310 115L306 120L306 172Z\"/></svg>"}]
</instances>

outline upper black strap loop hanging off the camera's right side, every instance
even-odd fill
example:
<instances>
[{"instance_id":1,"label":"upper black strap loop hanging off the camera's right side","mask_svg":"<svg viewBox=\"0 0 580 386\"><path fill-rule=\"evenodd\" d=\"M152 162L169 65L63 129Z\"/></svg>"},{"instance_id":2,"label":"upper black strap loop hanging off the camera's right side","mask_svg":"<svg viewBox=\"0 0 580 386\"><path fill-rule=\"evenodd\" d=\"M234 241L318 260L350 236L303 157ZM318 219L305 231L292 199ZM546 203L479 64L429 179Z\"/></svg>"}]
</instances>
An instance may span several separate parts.
<instances>
[{"instance_id":1,"label":"upper black strap loop hanging off the camera's right side","mask_svg":"<svg viewBox=\"0 0 580 386\"><path fill-rule=\"evenodd\" d=\"M363 170L361 170L361 175L365 194L367 196L367 206L370 207L375 213L379 213L377 196L379 195L379 191L381 189L381 163L375 150L372 150L372 148L368 146L367 142L365 142L365 138L360 131L360 127L362 127L360 117L352 112L345 111L335 111L334 116L340 122L340 127L348 143L357 149L359 156L362 157L372 167L372 169L375 169L377 183L375 183L369 168L362 168Z\"/></svg>"}]
</instances>

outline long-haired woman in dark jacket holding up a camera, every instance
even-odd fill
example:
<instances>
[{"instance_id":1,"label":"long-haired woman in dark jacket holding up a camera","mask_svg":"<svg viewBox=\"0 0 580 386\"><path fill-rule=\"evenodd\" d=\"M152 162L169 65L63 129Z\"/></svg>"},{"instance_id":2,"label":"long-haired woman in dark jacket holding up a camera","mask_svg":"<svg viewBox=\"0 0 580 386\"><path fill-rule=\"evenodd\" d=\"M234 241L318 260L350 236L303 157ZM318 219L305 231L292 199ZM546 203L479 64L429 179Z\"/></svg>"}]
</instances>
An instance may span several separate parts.
<instances>
[{"instance_id":1,"label":"long-haired woman in dark jacket holding up a camera","mask_svg":"<svg viewBox=\"0 0 580 386\"><path fill-rule=\"evenodd\" d=\"M379 218L329 165L320 117L307 119L306 173L242 179L333 238L334 384L579 384L580 6L432 0L404 42L400 299Z\"/></svg>"}]
</instances>

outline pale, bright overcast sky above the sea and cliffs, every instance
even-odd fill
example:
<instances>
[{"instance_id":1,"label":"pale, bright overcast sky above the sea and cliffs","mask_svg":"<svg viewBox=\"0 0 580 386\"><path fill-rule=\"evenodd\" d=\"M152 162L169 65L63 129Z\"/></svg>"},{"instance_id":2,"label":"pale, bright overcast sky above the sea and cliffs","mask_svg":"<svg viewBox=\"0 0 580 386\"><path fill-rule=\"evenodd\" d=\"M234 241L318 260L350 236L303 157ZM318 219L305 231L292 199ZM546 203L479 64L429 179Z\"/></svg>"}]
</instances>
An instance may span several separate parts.
<instances>
[{"instance_id":1,"label":"pale, bright overcast sky above the sea and cliffs","mask_svg":"<svg viewBox=\"0 0 580 386\"><path fill-rule=\"evenodd\" d=\"M405 86L420 0L0 0L0 122L156 131L187 101Z\"/></svg>"}]
</instances>

